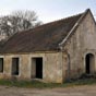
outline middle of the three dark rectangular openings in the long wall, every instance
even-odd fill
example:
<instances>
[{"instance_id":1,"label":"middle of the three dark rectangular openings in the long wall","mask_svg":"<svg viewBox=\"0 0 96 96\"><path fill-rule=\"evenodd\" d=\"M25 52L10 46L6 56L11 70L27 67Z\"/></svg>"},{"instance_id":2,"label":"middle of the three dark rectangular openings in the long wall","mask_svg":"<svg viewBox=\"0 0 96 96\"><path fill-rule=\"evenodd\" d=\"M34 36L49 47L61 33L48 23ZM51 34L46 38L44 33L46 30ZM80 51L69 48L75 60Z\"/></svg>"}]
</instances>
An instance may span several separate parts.
<instances>
[{"instance_id":1,"label":"middle of the three dark rectangular openings in the long wall","mask_svg":"<svg viewBox=\"0 0 96 96\"><path fill-rule=\"evenodd\" d=\"M12 58L12 75L19 75L19 58Z\"/></svg>"}]
</instances>

